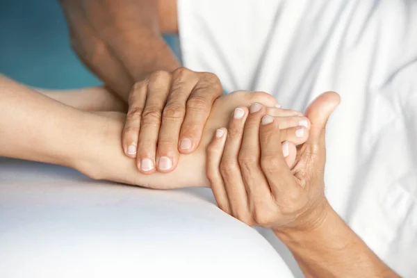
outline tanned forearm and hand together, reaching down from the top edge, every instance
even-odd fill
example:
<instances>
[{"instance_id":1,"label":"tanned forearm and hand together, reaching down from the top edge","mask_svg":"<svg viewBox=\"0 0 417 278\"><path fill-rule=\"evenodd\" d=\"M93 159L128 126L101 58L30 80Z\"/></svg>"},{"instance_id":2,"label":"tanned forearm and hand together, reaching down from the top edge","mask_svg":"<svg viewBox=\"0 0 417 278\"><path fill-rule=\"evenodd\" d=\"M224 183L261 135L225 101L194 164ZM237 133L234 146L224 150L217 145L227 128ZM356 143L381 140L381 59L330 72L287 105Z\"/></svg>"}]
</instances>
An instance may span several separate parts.
<instances>
[{"instance_id":1,"label":"tanned forearm and hand together, reaching down from the top edge","mask_svg":"<svg viewBox=\"0 0 417 278\"><path fill-rule=\"evenodd\" d=\"M60 0L72 47L118 97L129 102L124 154L140 172L171 172L199 145L222 85L180 67L163 31L177 31L176 1ZM133 89L132 89L133 88Z\"/></svg>"}]
</instances>

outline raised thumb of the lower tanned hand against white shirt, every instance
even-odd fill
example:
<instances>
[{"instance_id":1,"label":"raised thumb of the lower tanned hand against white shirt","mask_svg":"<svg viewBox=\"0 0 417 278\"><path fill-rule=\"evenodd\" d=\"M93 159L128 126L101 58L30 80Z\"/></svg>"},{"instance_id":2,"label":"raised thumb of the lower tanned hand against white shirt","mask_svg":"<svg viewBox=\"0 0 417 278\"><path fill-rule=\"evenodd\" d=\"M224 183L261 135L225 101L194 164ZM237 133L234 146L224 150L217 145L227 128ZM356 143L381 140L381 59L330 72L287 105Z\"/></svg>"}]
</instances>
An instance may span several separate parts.
<instances>
[{"instance_id":1,"label":"raised thumb of the lower tanned hand against white shirt","mask_svg":"<svg viewBox=\"0 0 417 278\"><path fill-rule=\"evenodd\" d=\"M325 148L325 127L330 115L341 102L336 92L324 92L316 97L306 109L306 117L311 122L311 129L307 144L313 147L313 152Z\"/></svg>"}]
</instances>

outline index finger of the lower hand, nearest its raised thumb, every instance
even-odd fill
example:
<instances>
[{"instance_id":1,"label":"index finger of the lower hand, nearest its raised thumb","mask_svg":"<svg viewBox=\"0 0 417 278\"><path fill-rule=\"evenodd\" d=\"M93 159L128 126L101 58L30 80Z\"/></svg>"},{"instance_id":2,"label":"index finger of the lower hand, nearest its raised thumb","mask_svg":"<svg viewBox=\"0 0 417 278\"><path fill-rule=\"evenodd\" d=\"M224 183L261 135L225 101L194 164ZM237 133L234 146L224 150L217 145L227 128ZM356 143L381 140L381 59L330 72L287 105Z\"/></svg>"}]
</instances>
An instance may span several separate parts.
<instances>
[{"instance_id":1,"label":"index finger of the lower hand, nearest its raised thumb","mask_svg":"<svg viewBox=\"0 0 417 278\"><path fill-rule=\"evenodd\" d=\"M266 115L262 118L259 140L261 141L261 168L272 194L275 197L283 197L284 194L297 190L296 186L293 186L293 174L284 159L282 146L277 144L278 140L281 140L281 132L274 117Z\"/></svg>"}]
</instances>

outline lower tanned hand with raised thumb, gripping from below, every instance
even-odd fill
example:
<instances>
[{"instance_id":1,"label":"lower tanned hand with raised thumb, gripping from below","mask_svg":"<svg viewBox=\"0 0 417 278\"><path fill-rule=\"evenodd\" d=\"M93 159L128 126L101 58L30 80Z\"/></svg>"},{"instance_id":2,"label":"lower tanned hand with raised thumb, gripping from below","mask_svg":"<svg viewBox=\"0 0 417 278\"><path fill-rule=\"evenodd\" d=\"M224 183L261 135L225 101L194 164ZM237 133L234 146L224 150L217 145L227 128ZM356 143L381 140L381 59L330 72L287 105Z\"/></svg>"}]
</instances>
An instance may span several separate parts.
<instances>
[{"instance_id":1,"label":"lower tanned hand with raised thumb, gripping from below","mask_svg":"<svg viewBox=\"0 0 417 278\"><path fill-rule=\"evenodd\" d=\"M324 192L325 126L339 102L336 93L326 92L309 106L309 139L297 149L292 170L283 155L277 118L271 122L271 117L258 117L257 129L231 122L233 132L226 135L224 129L223 136L213 136L207 177L218 206L251 226L314 229L329 208ZM242 140L234 140L236 136ZM288 147L290 153L296 152L291 142Z\"/></svg>"}]
</instances>

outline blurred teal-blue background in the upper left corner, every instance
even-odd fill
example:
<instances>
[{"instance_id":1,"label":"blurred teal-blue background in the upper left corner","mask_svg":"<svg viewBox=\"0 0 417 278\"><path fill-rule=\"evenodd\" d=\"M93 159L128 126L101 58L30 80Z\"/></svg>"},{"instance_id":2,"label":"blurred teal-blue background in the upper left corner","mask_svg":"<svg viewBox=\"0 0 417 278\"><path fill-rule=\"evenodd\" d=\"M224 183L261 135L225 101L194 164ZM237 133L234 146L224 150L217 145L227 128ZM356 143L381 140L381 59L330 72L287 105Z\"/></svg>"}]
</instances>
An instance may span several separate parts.
<instances>
[{"instance_id":1,"label":"blurred teal-blue background in the upper left corner","mask_svg":"<svg viewBox=\"0 0 417 278\"><path fill-rule=\"evenodd\" d=\"M165 40L179 53L177 36ZM0 0L0 72L42 88L101 83L72 51L58 0Z\"/></svg>"}]
</instances>

